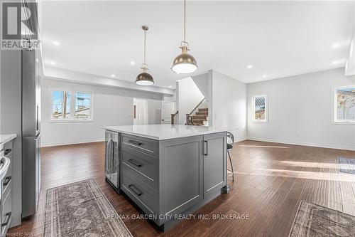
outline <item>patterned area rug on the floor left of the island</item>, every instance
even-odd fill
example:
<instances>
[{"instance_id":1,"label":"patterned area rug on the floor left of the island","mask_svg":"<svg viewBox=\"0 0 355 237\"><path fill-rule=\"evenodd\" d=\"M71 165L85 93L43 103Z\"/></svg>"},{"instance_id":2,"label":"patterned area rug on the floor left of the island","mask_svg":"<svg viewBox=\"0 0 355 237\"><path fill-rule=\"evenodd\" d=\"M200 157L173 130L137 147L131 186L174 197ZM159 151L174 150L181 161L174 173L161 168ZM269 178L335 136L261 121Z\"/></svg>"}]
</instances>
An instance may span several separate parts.
<instances>
[{"instance_id":1,"label":"patterned area rug on the floor left of the island","mask_svg":"<svg viewBox=\"0 0 355 237\"><path fill-rule=\"evenodd\" d=\"M47 190L43 235L132 236L94 179Z\"/></svg>"}]
</instances>

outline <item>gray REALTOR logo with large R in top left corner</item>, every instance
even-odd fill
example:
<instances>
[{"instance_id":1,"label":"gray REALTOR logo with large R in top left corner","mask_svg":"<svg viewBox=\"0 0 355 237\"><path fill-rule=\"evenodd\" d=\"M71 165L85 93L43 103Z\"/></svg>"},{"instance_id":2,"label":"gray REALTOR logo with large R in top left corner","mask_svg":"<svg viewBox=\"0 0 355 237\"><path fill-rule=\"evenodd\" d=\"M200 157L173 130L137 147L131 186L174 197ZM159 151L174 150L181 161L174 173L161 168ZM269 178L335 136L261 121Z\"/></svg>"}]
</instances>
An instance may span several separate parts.
<instances>
[{"instance_id":1,"label":"gray REALTOR logo with large R in top left corner","mask_svg":"<svg viewBox=\"0 0 355 237\"><path fill-rule=\"evenodd\" d=\"M38 47L37 3L3 2L1 13L1 49Z\"/></svg>"}]
</instances>

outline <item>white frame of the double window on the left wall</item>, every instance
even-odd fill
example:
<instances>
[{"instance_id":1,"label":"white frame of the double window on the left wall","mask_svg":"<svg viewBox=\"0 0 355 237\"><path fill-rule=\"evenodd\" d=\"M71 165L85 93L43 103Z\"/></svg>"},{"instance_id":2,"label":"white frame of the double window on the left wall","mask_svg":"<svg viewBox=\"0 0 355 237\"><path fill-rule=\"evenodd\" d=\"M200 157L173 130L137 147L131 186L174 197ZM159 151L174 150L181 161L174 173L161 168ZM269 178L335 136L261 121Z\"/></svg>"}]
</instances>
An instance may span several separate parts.
<instances>
[{"instance_id":1,"label":"white frame of the double window on the left wall","mask_svg":"<svg viewBox=\"0 0 355 237\"><path fill-rule=\"evenodd\" d=\"M70 93L70 119L53 119L53 92L54 91L67 91ZM75 118L75 93L87 93L90 94L90 116L87 120L80 120ZM50 120L49 122L94 122L94 92L92 91L84 91L84 90L67 90L62 88L52 88L49 90L49 98L50 98Z\"/></svg>"}]
</instances>

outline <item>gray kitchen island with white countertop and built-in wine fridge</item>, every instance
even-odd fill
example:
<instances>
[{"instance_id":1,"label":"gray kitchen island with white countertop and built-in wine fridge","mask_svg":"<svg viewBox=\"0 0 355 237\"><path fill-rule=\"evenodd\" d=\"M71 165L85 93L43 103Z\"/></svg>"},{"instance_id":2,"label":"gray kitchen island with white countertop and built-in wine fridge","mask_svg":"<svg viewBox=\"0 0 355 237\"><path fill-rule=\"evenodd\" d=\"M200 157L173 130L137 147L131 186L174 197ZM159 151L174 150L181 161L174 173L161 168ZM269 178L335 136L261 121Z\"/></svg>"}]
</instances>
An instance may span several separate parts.
<instances>
[{"instance_id":1,"label":"gray kitchen island with white countertop and built-in wine fridge","mask_svg":"<svg viewBox=\"0 0 355 237\"><path fill-rule=\"evenodd\" d=\"M226 131L185 125L104 127L105 172L164 231L228 191Z\"/></svg>"}]
</instances>

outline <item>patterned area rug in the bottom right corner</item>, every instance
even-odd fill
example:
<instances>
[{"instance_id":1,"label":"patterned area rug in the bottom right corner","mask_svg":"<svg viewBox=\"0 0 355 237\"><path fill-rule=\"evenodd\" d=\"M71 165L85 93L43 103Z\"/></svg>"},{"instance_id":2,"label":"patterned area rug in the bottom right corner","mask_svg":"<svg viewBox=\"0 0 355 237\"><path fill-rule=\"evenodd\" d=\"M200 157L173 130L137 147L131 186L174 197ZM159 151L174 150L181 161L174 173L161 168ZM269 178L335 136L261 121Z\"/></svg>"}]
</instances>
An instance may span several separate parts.
<instances>
[{"instance_id":1,"label":"patterned area rug in the bottom right corner","mask_svg":"<svg viewBox=\"0 0 355 237\"><path fill-rule=\"evenodd\" d=\"M355 236L355 216L301 201L290 237Z\"/></svg>"}]
</instances>

